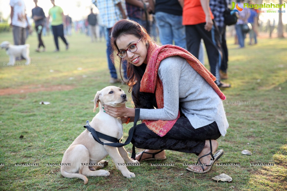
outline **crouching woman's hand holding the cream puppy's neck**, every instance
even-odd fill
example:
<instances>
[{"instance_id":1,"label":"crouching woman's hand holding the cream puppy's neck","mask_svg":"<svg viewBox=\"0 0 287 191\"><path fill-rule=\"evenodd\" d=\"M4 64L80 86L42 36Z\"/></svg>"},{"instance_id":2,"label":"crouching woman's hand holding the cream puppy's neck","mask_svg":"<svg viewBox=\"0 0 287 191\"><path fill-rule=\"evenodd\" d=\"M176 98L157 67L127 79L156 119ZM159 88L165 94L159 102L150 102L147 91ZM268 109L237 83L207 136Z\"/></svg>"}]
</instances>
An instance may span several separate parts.
<instances>
[{"instance_id":1,"label":"crouching woman's hand holding the cream puppy's neck","mask_svg":"<svg viewBox=\"0 0 287 191\"><path fill-rule=\"evenodd\" d=\"M112 117L134 117L135 111L132 108L126 107L125 104L121 107L112 107L109 105L103 105L104 112ZM123 120L122 120L123 121Z\"/></svg>"}]
</instances>

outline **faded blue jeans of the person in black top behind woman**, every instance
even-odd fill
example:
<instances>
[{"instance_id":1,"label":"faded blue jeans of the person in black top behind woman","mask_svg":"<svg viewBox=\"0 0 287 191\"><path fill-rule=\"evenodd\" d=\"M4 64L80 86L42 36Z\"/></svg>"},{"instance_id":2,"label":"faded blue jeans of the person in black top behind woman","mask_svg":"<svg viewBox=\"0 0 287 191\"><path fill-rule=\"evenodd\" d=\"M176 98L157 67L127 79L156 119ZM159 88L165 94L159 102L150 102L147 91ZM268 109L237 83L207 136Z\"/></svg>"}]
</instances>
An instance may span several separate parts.
<instances>
[{"instance_id":1,"label":"faded blue jeans of the person in black top behind woman","mask_svg":"<svg viewBox=\"0 0 287 191\"><path fill-rule=\"evenodd\" d=\"M156 25L162 45L174 44L186 49L185 26L182 25L182 16L172 15L164 12L156 12Z\"/></svg>"}]
</instances>

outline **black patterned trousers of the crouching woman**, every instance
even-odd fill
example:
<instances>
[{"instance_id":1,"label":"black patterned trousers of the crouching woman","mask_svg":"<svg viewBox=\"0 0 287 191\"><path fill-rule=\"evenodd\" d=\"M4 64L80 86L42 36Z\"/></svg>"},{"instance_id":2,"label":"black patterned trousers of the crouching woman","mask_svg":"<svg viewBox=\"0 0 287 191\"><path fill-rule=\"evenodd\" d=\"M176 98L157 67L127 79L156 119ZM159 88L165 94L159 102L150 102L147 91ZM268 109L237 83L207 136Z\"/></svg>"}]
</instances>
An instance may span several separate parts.
<instances>
[{"instance_id":1,"label":"black patterned trousers of the crouching woman","mask_svg":"<svg viewBox=\"0 0 287 191\"><path fill-rule=\"evenodd\" d=\"M136 108L151 109L151 105L155 104L155 96L152 93L139 92L141 100L138 101L132 91L132 97ZM185 115L180 113L181 117L163 137L148 129L144 123L136 125L131 143L141 149L167 149L199 155L205 145L205 140L218 139L221 136L215 121L194 129ZM129 130L129 134L131 130Z\"/></svg>"}]
</instances>

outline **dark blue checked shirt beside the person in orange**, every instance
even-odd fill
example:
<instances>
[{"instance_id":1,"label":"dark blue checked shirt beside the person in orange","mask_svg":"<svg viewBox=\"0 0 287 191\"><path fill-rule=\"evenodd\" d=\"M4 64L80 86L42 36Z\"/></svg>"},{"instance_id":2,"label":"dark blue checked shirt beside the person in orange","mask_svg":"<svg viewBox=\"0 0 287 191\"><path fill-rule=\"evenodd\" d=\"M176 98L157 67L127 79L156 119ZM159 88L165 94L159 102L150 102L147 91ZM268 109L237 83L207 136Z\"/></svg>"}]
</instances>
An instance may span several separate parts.
<instances>
[{"instance_id":1,"label":"dark blue checked shirt beside the person in orange","mask_svg":"<svg viewBox=\"0 0 287 191\"><path fill-rule=\"evenodd\" d=\"M209 6L211 9L211 12L214 16L214 20L216 22L216 25L219 27L224 27L224 16L223 12L226 8L226 3L224 3L226 0L210 0Z\"/></svg>"}]
</instances>

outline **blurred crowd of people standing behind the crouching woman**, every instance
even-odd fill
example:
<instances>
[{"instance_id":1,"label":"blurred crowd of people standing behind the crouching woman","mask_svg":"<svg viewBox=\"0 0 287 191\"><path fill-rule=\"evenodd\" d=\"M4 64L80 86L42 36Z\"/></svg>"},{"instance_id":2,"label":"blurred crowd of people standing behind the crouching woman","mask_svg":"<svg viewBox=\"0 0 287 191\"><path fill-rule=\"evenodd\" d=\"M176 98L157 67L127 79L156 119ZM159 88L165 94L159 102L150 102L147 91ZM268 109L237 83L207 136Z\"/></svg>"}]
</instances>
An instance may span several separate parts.
<instances>
[{"instance_id":1,"label":"blurred crowd of people standing behind the crouching woman","mask_svg":"<svg viewBox=\"0 0 287 191\"><path fill-rule=\"evenodd\" d=\"M34 31L38 36L37 52L46 51L41 38L54 36L55 50L58 52L60 37L69 49L67 36L72 35L72 30L90 36L91 42L106 41L106 54L108 68L110 70L110 83L120 82L115 66L110 59L113 49L110 45L109 33L113 25L121 19L131 19L141 24L156 41L162 45L174 44L193 54L204 64L204 50L208 56L210 71L216 76L216 84L219 87L230 87L221 80L228 78L228 48L226 45L226 24L224 23L224 11L228 9L231 0L92 0L97 9L91 7L90 14L82 20L72 21L69 15L64 15L63 9L55 5L48 15L38 7L34 0L35 8L32 9L32 18L35 23ZM243 7L243 0L237 0L238 6ZM252 4L249 1L249 4ZM10 0L11 26L13 26L14 44L25 44L28 33L31 33L31 21L26 14L24 0ZM97 11L95 11L97 10ZM245 47L245 38L249 33L249 45L257 44L258 13L256 9L244 8L236 12L238 17L234 25L236 30L235 43L239 48ZM51 21L50 21L51 18ZM274 29L275 20L267 23L270 37ZM122 80L127 80L125 61Z\"/></svg>"}]
</instances>

